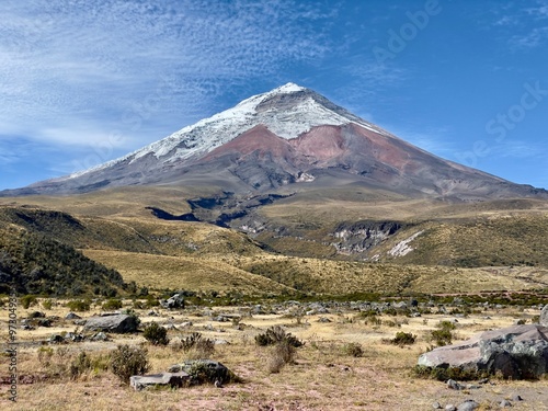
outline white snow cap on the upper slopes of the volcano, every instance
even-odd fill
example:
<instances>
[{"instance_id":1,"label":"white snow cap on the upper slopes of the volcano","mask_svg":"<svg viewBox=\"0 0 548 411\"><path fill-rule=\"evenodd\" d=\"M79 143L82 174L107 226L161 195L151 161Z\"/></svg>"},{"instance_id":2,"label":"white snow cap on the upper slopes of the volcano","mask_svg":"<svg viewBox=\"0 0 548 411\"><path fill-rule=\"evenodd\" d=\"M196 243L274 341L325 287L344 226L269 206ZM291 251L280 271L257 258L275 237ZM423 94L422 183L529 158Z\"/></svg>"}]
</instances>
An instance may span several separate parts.
<instances>
[{"instance_id":1,"label":"white snow cap on the upper slopes of the volcano","mask_svg":"<svg viewBox=\"0 0 548 411\"><path fill-rule=\"evenodd\" d=\"M276 104L269 107L269 101L284 98L290 102L285 110L279 110ZM246 99L232 109L186 126L171 136L119 159L60 180L106 169L126 160L132 163L148 155L153 155L157 159L163 158L164 162L172 162L207 153L259 124L266 126L279 137L292 139L316 126L339 126L349 123L356 123L375 133L390 136L387 132L332 104L316 92L289 82L270 92Z\"/></svg>"}]
</instances>

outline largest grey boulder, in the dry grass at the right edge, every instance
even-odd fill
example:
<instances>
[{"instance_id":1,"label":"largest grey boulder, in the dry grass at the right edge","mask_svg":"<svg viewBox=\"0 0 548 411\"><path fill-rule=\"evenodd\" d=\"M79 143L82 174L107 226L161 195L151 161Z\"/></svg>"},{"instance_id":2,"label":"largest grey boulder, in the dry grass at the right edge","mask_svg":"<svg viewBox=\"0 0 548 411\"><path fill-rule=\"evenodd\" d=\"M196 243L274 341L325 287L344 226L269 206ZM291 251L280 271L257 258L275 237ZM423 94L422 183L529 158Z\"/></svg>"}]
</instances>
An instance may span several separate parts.
<instances>
[{"instance_id":1,"label":"largest grey boulder, in the dry grass at the right edge","mask_svg":"<svg viewBox=\"0 0 548 411\"><path fill-rule=\"evenodd\" d=\"M538 378L548 373L548 328L525 324L484 331L470 340L422 354L419 365L501 373L513 379Z\"/></svg>"}]
</instances>

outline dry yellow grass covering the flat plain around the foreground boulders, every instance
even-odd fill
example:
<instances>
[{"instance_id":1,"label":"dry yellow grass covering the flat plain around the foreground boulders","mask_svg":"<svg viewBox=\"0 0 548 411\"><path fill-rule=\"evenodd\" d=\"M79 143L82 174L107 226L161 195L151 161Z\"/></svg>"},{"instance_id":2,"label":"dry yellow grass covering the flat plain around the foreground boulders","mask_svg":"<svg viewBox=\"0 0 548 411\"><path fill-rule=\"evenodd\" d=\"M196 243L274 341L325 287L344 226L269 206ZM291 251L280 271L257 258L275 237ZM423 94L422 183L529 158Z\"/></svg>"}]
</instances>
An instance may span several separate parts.
<instances>
[{"instance_id":1,"label":"dry yellow grass covering the flat plain around the foreground boulders","mask_svg":"<svg viewBox=\"0 0 548 411\"><path fill-rule=\"evenodd\" d=\"M128 301L126 302L128 304ZM20 317L34 310L20 309ZM46 310L48 315L62 316L68 309L57 306ZM7 310L2 310L2 336L5 336ZM192 321L193 326L169 331L176 341L198 331L210 339L224 339L230 344L216 345L212 358L220 361L243 378L243 384L227 385L222 389L213 386L159 389L135 392L110 372L90 372L77 380L61 376L52 377L55 364L67 363L81 350L90 355L106 355L118 343L144 344L148 347L150 373L162 372L169 365L181 362L185 353L172 346L151 346L139 335L117 336L103 343L71 343L52 345L55 354L45 365L37 357L39 345L23 344L19 353L21 376L42 376L44 380L19 385L19 401L8 401L7 385L0 385L2 410L431 410L432 403L456 403L473 398L482 410L496 410L496 403L513 393L525 401L514 402L515 410L547 410L548 380L504 381L493 380L478 390L453 391L443 383L415 378L411 369L418 356L432 342L429 333L441 320L455 317L424 315L420 318L381 316L380 326L365 323L354 311L331 312L322 317L332 322L318 322L319 316L306 316L297 321L292 316L249 316L249 308L215 308L215 313L241 313L241 330L230 322L215 322L204 316L205 309L187 309L178 312L160 310L161 317L147 317L139 311L144 323L159 321L180 326ZM210 313L210 312L208 312ZM456 334L465 339L478 331L510 326L516 319L530 321L538 310L499 309L472 313L459 318ZM213 326L209 331L205 327ZM281 324L306 344L297 350L295 364L286 365L278 374L269 373L271 349L254 344L254 336L267 327ZM399 326L398 326L399 324ZM52 329L20 331L21 343L44 340L54 332L75 331L70 321L60 321ZM384 343L397 331L418 335L413 345L399 347ZM350 342L359 343L362 357L344 353ZM4 376L5 369L0 370ZM49 378L46 376L49 375ZM39 378L38 378L39 379Z\"/></svg>"}]
</instances>

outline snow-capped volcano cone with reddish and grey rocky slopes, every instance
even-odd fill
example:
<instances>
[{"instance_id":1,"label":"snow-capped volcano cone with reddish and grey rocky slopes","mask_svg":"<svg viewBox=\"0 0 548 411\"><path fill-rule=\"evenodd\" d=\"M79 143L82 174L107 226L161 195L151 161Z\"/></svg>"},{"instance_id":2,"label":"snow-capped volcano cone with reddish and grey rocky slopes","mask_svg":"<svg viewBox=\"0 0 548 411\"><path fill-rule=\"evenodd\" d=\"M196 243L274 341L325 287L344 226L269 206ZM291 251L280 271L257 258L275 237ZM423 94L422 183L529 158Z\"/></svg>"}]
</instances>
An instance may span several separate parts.
<instances>
[{"instance_id":1,"label":"snow-capped volcano cone with reddish and grey rocky slopes","mask_svg":"<svg viewBox=\"0 0 548 411\"><path fill-rule=\"evenodd\" d=\"M456 199L548 196L433 156L294 83L251 96L119 159L1 194L126 185L264 193L346 184Z\"/></svg>"}]
</instances>

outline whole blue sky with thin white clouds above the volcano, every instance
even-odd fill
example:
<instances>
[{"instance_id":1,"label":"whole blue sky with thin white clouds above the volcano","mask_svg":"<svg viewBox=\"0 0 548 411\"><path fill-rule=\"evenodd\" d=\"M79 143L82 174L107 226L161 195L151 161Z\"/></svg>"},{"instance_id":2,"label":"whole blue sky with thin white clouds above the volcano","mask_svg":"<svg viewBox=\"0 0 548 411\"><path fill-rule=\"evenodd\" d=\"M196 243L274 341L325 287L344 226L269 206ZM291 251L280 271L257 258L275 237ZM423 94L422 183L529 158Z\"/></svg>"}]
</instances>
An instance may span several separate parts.
<instances>
[{"instance_id":1,"label":"whole blue sky with thin white clouds above the volcano","mask_svg":"<svg viewBox=\"0 0 548 411\"><path fill-rule=\"evenodd\" d=\"M548 187L548 0L3 0L0 190L293 81L446 159Z\"/></svg>"}]
</instances>

